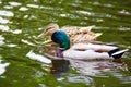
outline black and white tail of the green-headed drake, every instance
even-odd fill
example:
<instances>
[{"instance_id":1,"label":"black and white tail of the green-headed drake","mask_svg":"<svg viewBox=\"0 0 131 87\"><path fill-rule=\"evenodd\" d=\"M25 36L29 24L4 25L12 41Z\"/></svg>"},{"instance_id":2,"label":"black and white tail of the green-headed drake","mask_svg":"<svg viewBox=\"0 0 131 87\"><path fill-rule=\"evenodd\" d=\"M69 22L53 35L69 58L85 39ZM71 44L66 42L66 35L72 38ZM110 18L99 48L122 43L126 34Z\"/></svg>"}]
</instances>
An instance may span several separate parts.
<instances>
[{"instance_id":1,"label":"black and white tail of the green-headed drake","mask_svg":"<svg viewBox=\"0 0 131 87\"><path fill-rule=\"evenodd\" d=\"M123 53L126 51L128 51L129 49L124 49L124 50L119 50L119 49L114 49L111 51L108 52L109 57L112 57L115 59L119 59L123 55Z\"/></svg>"}]
</instances>

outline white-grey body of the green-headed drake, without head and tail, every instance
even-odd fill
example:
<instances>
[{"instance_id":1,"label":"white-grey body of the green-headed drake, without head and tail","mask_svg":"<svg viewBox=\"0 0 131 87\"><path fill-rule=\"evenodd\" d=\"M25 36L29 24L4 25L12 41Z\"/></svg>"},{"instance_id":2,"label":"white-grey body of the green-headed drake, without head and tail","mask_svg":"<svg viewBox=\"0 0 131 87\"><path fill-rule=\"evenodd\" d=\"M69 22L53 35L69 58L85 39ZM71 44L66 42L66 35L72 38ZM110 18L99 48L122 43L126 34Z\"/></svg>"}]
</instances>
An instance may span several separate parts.
<instances>
[{"instance_id":1,"label":"white-grey body of the green-headed drake, without head and tail","mask_svg":"<svg viewBox=\"0 0 131 87\"><path fill-rule=\"evenodd\" d=\"M118 49L118 47L94 44L76 44L70 49L63 51L63 57L76 60L114 59L108 52L115 49Z\"/></svg>"}]
</instances>

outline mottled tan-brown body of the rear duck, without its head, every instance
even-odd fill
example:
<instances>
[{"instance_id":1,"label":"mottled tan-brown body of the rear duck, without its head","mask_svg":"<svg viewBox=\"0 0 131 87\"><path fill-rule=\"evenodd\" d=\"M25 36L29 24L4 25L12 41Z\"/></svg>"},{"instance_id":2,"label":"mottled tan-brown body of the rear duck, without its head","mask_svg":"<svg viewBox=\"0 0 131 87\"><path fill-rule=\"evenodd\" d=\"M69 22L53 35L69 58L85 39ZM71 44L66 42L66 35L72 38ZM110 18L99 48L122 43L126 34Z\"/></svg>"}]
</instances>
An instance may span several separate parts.
<instances>
[{"instance_id":1,"label":"mottled tan-brown body of the rear duck, without its head","mask_svg":"<svg viewBox=\"0 0 131 87\"><path fill-rule=\"evenodd\" d=\"M64 26L61 29L66 32L72 44L91 42L95 41L102 33L92 32L94 26L79 27L79 26Z\"/></svg>"}]
</instances>

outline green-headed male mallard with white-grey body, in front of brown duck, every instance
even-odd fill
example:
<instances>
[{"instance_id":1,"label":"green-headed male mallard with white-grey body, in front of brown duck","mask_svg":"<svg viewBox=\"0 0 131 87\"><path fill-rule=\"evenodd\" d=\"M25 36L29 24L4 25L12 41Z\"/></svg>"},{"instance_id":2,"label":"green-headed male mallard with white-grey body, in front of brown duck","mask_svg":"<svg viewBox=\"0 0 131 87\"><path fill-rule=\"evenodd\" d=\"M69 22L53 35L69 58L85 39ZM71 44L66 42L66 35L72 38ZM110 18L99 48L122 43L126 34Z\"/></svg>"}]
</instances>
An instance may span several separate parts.
<instances>
[{"instance_id":1,"label":"green-headed male mallard with white-grey body, in front of brown duck","mask_svg":"<svg viewBox=\"0 0 131 87\"><path fill-rule=\"evenodd\" d=\"M51 40L59 45L57 49L58 58L70 58L78 60L93 60L93 59L119 59L128 51L119 50L116 46L95 45L95 44L75 44L70 47L70 38L62 30L56 30Z\"/></svg>"}]
</instances>

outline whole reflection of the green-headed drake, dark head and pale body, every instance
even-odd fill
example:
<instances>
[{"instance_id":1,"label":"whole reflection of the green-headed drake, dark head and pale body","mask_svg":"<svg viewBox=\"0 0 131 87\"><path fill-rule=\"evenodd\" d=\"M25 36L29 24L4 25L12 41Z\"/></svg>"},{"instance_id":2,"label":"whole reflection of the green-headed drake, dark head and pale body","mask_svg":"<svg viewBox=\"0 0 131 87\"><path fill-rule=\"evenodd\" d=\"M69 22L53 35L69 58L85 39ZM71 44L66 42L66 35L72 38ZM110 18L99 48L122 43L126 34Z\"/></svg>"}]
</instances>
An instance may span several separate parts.
<instances>
[{"instance_id":1,"label":"whole reflection of the green-headed drake, dark head and pale body","mask_svg":"<svg viewBox=\"0 0 131 87\"><path fill-rule=\"evenodd\" d=\"M63 76L71 67L76 72L95 76L102 72L109 72L115 70L128 71L127 64L121 60L100 60L100 61L80 61L80 60L52 60L51 74L55 76Z\"/></svg>"}]
</instances>

